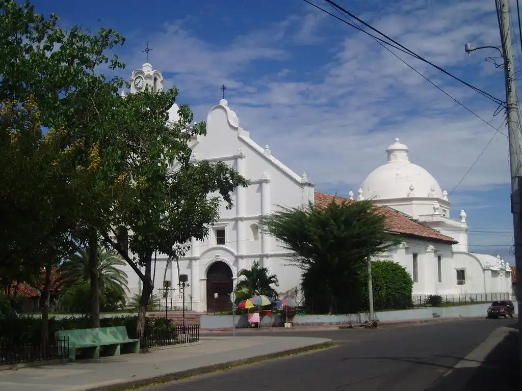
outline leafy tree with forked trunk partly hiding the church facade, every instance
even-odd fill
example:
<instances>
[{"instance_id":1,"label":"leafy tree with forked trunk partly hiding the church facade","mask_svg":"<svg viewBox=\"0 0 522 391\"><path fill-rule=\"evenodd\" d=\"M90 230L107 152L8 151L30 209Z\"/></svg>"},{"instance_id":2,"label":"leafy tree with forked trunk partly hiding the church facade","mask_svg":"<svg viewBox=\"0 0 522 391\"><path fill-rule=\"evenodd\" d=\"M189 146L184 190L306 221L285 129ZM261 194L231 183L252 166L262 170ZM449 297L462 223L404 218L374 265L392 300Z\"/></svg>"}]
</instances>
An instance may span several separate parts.
<instances>
[{"instance_id":1,"label":"leafy tree with forked trunk partly hiding the church facade","mask_svg":"<svg viewBox=\"0 0 522 391\"><path fill-rule=\"evenodd\" d=\"M152 294L153 254L178 259L189 249L191 238L204 239L209 225L217 222L221 200L232 207L231 194L247 181L224 162L189 162L193 137L205 136L205 123L193 122L187 105L179 109L179 121L168 124L168 110L178 91L149 90L125 97L123 118L127 130L124 156L128 170L116 181L120 197L115 206L115 226L132 231L128 246L136 260L129 258L117 240L104 234L143 282L137 332L143 332L147 302ZM123 148L123 147L122 147ZM213 193L219 196L211 196ZM210 196L209 196L210 195ZM114 236L118 236L113 230ZM144 267L141 272L138 265Z\"/></svg>"}]
</instances>

